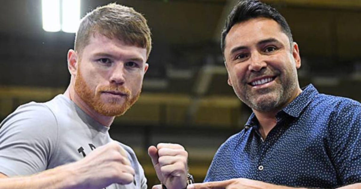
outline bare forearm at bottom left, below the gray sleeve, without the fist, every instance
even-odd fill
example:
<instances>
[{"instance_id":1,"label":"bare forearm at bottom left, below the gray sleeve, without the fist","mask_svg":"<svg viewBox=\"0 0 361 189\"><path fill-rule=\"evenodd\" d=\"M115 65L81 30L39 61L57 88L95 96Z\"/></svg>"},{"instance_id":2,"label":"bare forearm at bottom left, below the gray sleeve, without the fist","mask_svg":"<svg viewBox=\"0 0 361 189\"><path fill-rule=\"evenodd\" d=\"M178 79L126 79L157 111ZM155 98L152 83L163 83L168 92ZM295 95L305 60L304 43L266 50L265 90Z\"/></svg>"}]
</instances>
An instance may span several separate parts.
<instances>
[{"instance_id":1,"label":"bare forearm at bottom left, below the gray sleeve, without the fist","mask_svg":"<svg viewBox=\"0 0 361 189\"><path fill-rule=\"evenodd\" d=\"M75 172L64 165L35 175L0 179L0 189L73 189L77 187Z\"/></svg>"}]
</instances>

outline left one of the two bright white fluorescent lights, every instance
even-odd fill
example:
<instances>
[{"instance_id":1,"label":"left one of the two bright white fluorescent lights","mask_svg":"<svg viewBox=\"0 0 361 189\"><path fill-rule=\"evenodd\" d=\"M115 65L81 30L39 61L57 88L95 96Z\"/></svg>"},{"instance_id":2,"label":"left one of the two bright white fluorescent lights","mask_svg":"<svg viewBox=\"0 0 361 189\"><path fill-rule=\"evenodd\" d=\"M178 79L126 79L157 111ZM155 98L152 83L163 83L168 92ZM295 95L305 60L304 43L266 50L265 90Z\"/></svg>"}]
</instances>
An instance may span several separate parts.
<instances>
[{"instance_id":1,"label":"left one of the two bright white fluorescent lights","mask_svg":"<svg viewBox=\"0 0 361 189\"><path fill-rule=\"evenodd\" d=\"M42 0L43 29L48 32L60 31L60 0Z\"/></svg>"}]
</instances>

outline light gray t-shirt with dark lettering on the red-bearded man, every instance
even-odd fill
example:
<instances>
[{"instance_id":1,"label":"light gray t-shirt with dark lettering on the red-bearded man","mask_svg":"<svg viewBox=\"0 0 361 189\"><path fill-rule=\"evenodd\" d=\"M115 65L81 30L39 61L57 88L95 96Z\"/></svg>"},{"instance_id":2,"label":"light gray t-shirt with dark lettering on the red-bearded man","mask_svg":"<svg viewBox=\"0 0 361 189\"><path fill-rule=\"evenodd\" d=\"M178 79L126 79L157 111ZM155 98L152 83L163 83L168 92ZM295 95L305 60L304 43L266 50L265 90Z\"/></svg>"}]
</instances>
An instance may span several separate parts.
<instances>
[{"instance_id":1,"label":"light gray t-shirt with dark lettering on the red-bearded man","mask_svg":"<svg viewBox=\"0 0 361 189\"><path fill-rule=\"evenodd\" d=\"M0 123L0 172L8 176L31 175L78 161L112 139L101 125L64 95L45 103L30 102ZM112 184L106 189L147 188L147 180L134 151L127 152L135 182Z\"/></svg>"}]
</instances>

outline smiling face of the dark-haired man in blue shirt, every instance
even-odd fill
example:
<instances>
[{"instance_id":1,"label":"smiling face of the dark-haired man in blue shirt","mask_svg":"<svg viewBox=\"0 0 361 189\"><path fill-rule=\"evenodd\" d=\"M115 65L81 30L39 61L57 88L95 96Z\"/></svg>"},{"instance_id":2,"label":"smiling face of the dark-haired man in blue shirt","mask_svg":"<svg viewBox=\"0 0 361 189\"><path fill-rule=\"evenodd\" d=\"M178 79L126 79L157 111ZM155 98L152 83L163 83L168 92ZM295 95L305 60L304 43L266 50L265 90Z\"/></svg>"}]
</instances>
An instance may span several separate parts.
<instances>
[{"instance_id":1,"label":"smiling face of the dark-haired man in blue shirt","mask_svg":"<svg viewBox=\"0 0 361 189\"><path fill-rule=\"evenodd\" d=\"M231 85L240 100L259 112L278 111L299 93L298 46L269 18L235 24L225 39L224 57Z\"/></svg>"}]
</instances>

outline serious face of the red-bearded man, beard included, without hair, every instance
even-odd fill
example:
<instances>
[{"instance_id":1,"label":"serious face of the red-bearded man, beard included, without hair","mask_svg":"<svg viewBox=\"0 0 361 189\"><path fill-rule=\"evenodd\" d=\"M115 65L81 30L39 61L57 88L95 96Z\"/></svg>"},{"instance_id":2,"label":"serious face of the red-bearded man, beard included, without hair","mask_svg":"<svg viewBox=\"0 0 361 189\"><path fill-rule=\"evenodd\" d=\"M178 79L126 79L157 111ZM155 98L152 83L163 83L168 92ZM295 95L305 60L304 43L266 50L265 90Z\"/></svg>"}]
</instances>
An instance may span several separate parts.
<instances>
[{"instance_id":1,"label":"serious face of the red-bearded man, beard included, without hair","mask_svg":"<svg viewBox=\"0 0 361 189\"><path fill-rule=\"evenodd\" d=\"M147 50L95 33L77 60L74 88L88 107L119 116L139 97Z\"/></svg>"}]
</instances>

